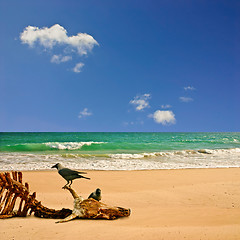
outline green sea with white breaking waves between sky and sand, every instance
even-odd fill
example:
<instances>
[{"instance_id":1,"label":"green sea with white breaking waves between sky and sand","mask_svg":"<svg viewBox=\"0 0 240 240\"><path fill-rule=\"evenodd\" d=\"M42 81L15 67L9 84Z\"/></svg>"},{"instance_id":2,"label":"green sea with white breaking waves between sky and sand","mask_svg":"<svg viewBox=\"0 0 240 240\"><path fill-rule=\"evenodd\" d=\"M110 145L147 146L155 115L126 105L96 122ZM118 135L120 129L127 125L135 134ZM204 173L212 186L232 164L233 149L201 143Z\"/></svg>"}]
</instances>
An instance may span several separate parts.
<instances>
[{"instance_id":1,"label":"green sea with white breaking waves between sky and sand","mask_svg":"<svg viewBox=\"0 0 240 240\"><path fill-rule=\"evenodd\" d=\"M0 170L240 167L240 133L0 133Z\"/></svg>"}]
</instances>

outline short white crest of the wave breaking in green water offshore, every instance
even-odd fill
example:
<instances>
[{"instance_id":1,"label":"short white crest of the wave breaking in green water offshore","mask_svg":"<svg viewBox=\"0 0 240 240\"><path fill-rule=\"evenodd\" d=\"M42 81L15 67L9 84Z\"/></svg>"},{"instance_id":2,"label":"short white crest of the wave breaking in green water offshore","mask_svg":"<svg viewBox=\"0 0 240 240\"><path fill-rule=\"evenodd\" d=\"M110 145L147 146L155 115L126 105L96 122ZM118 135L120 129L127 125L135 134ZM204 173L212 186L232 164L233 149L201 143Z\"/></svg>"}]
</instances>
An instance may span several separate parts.
<instances>
[{"instance_id":1,"label":"short white crest of the wave breaking in green water offshore","mask_svg":"<svg viewBox=\"0 0 240 240\"><path fill-rule=\"evenodd\" d=\"M59 150L77 150L81 149L84 145L90 146L92 144L102 144L104 142L49 142L44 143L50 148L55 148Z\"/></svg>"}]
</instances>

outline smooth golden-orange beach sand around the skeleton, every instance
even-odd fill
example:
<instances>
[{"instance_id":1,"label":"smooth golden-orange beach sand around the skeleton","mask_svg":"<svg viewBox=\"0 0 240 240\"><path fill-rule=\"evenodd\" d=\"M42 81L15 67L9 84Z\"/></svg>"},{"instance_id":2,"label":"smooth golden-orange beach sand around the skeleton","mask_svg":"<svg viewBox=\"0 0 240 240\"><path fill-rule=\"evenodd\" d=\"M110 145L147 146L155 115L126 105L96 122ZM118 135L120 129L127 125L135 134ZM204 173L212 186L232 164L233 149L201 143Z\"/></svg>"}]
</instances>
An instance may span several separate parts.
<instances>
[{"instance_id":1,"label":"smooth golden-orange beach sand around the skeleton","mask_svg":"<svg viewBox=\"0 0 240 240\"><path fill-rule=\"evenodd\" d=\"M0 220L0 239L240 239L240 169L88 171L72 187L84 198L97 187L102 202L131 208L128 218L73 220L34 216ZM71 208L55 171L23 173L44 206Z\"/></svg>"}]
</instances>

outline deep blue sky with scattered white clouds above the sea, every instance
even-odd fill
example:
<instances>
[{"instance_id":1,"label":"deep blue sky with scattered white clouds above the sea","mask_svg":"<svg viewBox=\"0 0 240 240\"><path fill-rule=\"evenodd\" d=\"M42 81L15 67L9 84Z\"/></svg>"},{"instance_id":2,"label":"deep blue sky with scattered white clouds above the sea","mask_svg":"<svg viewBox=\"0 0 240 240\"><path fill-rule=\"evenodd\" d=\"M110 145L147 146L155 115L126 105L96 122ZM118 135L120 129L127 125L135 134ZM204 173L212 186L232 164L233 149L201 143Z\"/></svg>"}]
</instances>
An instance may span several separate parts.
<instances>
[{"instance_id":1,"label":"deep blue sky with scattered white clouds above the sea","mask_svg":"<svg viewBox=\"0 0 240 240\"><path fill-rule=\"evenodd\" d=\"M239 13L0 0L0 131L239 131Z\"/></svg>"}]
</instances>

